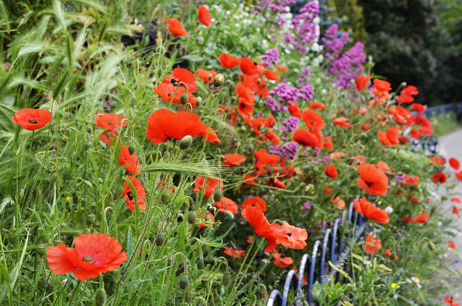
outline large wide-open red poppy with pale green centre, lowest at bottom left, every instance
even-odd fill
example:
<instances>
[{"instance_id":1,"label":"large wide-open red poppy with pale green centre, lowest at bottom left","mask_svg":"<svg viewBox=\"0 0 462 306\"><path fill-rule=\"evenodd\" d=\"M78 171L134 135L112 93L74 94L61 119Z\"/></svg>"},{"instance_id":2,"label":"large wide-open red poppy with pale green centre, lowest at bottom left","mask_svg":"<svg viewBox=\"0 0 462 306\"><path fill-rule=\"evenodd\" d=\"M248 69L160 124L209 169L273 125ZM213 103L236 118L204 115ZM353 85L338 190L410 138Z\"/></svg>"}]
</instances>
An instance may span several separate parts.
<instances>
[{"instance_id":1,"label":"large wide-open red poppy with pale green centre, lowest at bottom left","mask_svg":"<svg viewBox=\"0 0 462 306\"><path fill-rule=\"evenodd\" d=\"M74 238L73 244L73 248L64 243L48 248L48 266L54 274L73 271L80 281L86 281L118 269L128 258L122 245L106 234L82 234Z\"/></svg>"}]
</instances>

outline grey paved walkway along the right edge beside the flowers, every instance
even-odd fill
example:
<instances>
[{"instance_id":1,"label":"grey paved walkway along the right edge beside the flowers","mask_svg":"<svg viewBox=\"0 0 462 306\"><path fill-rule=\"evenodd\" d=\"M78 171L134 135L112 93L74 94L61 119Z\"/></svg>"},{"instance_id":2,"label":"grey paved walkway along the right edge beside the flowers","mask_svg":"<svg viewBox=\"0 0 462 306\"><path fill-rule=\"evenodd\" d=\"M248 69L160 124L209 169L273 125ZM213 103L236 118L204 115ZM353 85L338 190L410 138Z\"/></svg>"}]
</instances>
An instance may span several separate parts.
<instances>
[{"instance_id":1,"label":"grey paved walkway along the right edge beside the flowers","mask_svg":"<svg viewBox=\"0 0 462 306\"><path fill-rule=\"evenodd\" d=\"M459 128L450 134L441 136L439 138L438 151L442 156L446 158L446 160L450 159L451 157L455 157L462 163L462 128ZM449 165L447 167L449 167ZM454 171L452 168L449 171L451 173L452 181L454 179ZM442 188L440 188L440 190L438 190L438 194L440 196L448 196L446 195L446 190L443 186ZM456 254L462 257L462 203L451 202L451 196L458 196L462 199L462 184L460 181L452 190L449 199L441 204L440 212L445 216L453 219L453 226L456 228L451 228L452 232L455 233L455 236L451 240L454 241L454 243L456 244ZM460 216L452 214L453 205L456 205L461 211ZM460 275L462 275L462 263L455 262L455 259L457 257L451 251L446 252L446 255L448 258L447 266L452 273L448 272L448 275L444 278L439 279L439 281L441 284L444 285L447 291L445 293L443 292L442 294L438 294L438 296L434 298L439 303L444 304L444 297L446 295L452 295L454 297L454 300L456 300L458 304L461 304L462 277ZM457 270L459 270L459 272Z\"/></svg>"}]
</instances>

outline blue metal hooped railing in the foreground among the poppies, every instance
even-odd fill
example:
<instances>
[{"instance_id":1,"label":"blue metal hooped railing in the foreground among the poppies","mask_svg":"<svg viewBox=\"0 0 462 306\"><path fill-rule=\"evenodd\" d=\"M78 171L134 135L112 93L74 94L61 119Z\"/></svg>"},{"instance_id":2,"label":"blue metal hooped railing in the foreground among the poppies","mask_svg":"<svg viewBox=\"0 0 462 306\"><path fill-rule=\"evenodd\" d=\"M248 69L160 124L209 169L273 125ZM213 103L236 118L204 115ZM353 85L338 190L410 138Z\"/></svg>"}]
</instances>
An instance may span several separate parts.
<instances>
[{"instance_id":1,"label":"blue metal hooped railing in the foreground among the poppies","mask_svg":"<svg viewBox=\"0 0 462 306\"><path fill-rule=\"evenodd\" d=\"M359 196L357 196L357 199L358 198ZM362 214L357 214L353 210L353 202L351 202L348 211L343 211L341 221L338 219L335 220L334 226L329 228L324 234L324 239L322 241L316 240L311 254L303 255L298 269L298 276L297 270L290 270L287 273L282 294L277 289L271 291L267 301L267 306L274 306L274 301L277 301L279 306L286 306L291 284L296 292L298 290L303 290L302 286L304 276L308 276L308 285L304 287L307 290L305 294L306 300L308 305L311 305L313 284L315 282L314 276L316 263L319 262L318 282L328 282L327 278L324 276L336 273L336 271L333 271L332 267L329 264L326 264L326 255L328 255L328 260L330 260L334 265L337 265L340 264L342 260L345 260L347 255L350 253L350 247L343 243L341 230L343 228L347 229L347 226L353 226L353 240L356 242L365 232L366 219L367 218ZM347 220L346 224L345 220ZM346 230L345 235L347 238L350 238L348 234L349 232L350 231ZM320 253L319 258L318 253ZM337 273L337 280L340 280L339 273Z\"/></svg>"}]
</instances>

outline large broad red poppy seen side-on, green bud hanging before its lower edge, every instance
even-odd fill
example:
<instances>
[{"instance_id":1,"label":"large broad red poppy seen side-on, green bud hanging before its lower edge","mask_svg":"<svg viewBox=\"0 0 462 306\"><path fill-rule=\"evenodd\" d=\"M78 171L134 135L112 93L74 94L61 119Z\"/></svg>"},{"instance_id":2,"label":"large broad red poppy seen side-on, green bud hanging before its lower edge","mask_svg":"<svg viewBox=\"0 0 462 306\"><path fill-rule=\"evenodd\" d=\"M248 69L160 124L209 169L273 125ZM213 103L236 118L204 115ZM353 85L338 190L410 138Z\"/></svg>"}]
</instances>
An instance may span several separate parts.
<instances>
[{"instance_id":1,"label":"large broad red poppy seen side-on, green bud hanging before its lower edge","mask_svg":"<svg viewBox=\"0 0 462 306\"><path fill-rule=\"evenodd\" d=\"M201 122L199 116L186 111L173 112L166 109L156 110L147 119L147 139L159 144L168 141L170 138L182 139L186 135L200 135L204 139L208 127ZM213 130L211 129L210 132ZM216 134L215 134L216 135ZM209 134L207 141L216 141Z\"/></svg>"}]
</instances>

